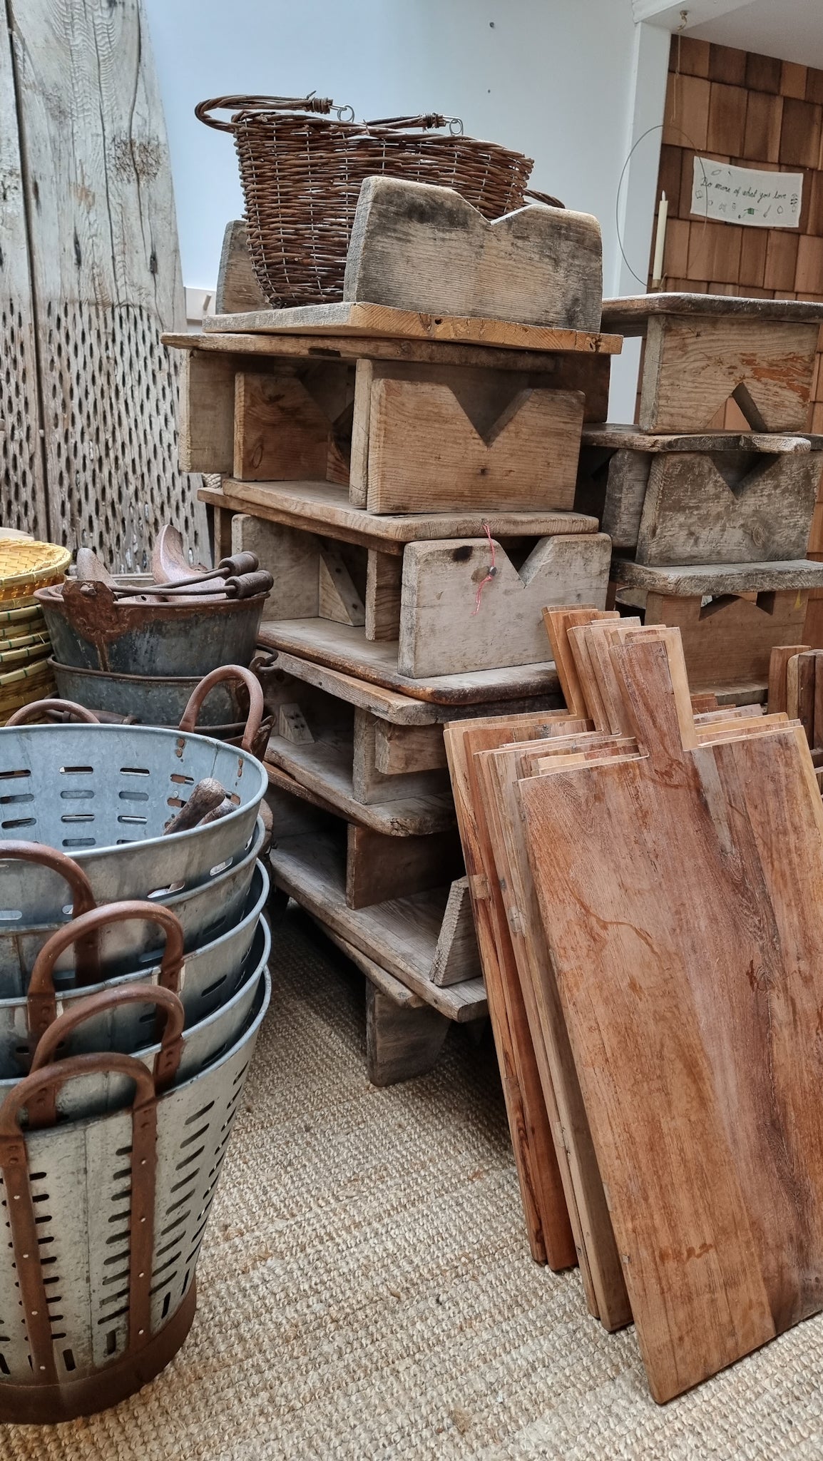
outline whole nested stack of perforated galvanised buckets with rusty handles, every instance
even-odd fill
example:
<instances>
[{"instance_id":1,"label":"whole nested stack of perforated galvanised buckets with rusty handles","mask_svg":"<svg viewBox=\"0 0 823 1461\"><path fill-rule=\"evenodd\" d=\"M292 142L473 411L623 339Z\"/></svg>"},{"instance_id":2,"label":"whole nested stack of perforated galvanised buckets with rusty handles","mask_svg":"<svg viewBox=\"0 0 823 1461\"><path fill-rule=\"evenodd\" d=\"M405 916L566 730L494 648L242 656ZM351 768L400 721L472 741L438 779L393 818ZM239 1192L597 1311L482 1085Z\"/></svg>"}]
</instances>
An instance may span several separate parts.
<instances>
[{"instance_id":1,"label":"whole nested stack of perforated galvanised buckets with rusty handles","mask_svg":"<svg viewBox=\"0 0 823 1461\"><path fill-rule=\"evenodd\" d=\"M208 735L0 730L0 1422L113 1405L186 1338L269 1001L266 785Z\"/></svg>"}]
</instances>

